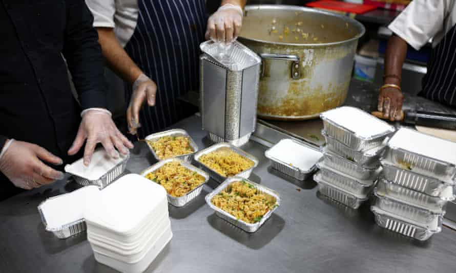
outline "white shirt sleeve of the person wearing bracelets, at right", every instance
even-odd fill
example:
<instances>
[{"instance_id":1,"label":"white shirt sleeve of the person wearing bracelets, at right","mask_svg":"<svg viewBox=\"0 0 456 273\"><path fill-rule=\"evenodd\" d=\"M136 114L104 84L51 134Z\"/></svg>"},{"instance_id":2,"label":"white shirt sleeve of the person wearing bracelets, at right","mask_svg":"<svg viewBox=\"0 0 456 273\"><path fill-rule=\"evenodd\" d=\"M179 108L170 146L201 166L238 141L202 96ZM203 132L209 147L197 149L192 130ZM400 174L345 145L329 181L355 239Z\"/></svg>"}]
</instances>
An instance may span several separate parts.
<instances>
[{"instance_id":1,"label":"white shirt sleeve of the person wearing bracelets, at right","mask_svg":"<svg viewBox=\"0 0 456 273\"><path fill-rule=\"evenodd\" d=\"M388 28L412 48L420 50L430 38L445 30L452 0L413 0Z\"/></svg>"}]
</instances>

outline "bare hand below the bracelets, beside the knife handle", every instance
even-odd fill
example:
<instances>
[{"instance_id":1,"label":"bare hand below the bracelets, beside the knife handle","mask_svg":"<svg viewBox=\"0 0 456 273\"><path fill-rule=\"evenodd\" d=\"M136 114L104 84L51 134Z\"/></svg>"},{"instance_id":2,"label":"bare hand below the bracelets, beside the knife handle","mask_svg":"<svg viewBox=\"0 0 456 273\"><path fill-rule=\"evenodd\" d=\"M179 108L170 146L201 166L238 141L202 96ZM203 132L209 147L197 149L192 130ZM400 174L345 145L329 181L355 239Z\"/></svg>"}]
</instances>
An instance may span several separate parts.
<instances>
[{"instance_id":1,"label":"bare hand below the bracelets, beside the knife handle","mask_svg":"<svg viewBox=\"0 0 456 273\"><path fill-rule=\"evenodd\" d=\"M390 121L401 120L402 103L404 96L401 90L388 87L380 90L378 110Z\"/></svg>"}]
</instances>

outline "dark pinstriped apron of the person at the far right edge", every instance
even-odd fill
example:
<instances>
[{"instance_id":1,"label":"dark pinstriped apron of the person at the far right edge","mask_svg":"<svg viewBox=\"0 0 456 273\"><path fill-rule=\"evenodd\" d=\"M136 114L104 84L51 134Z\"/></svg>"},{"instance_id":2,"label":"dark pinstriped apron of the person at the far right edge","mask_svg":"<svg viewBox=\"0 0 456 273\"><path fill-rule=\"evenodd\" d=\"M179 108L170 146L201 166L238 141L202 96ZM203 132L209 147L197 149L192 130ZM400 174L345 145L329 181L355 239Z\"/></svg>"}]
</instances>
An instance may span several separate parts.
<instances>
[{"instance_id":1,"label":"dark pinstriped apron of the person at the far right edge","mask_svg":"<svg viewBox=\"0 0 456 273\"><path fill-rule=\"evenodd\" d=\"M432 49L420 96L456 106L456 25Z\"/></svg>"}]
</instances>

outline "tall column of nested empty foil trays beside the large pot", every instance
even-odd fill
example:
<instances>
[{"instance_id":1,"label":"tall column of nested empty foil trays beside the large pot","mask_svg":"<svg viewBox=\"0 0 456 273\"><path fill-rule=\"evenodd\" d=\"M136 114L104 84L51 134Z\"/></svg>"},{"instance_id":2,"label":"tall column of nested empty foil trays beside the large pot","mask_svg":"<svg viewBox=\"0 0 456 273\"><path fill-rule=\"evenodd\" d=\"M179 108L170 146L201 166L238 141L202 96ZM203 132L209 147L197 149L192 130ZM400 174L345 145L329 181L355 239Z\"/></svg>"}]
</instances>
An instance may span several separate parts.
<instances>
[{"instance_id":1,"label":"tall column of nested empty foil trays beside the large pot","mask_svg":"<svg viewBox=\"0 0 456 273\"><path fill-rule=\"evenodd\" d=\"M200 49L202 129L213 143L242 146L255 131L261 59L237 41Z\"/></svg>"}]
</instances>

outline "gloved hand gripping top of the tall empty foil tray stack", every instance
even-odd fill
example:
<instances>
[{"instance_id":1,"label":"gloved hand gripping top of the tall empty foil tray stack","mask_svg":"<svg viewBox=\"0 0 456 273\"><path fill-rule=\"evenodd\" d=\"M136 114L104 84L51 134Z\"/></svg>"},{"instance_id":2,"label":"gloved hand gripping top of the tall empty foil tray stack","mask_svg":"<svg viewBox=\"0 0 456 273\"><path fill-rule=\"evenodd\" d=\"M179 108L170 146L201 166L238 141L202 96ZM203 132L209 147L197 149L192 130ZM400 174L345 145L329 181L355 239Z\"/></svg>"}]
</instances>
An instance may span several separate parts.
<instances>
[{"instance_id":1,"label":"gloved hand gripping top of the tall empty foil tray stack","mask_svg":"<svg viewBox=\"0 0 456 273\"><path fill-rule=\"evenodd\" d=\"M242 8L239 6L221 6L209 17L206 39L225 43L236 40L242 28L242 15Z\"/></svg>"}]
</instances>

